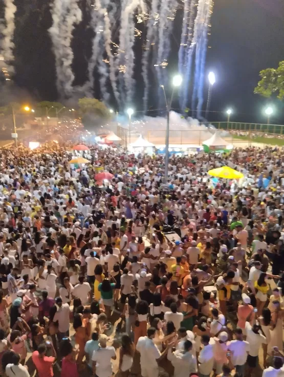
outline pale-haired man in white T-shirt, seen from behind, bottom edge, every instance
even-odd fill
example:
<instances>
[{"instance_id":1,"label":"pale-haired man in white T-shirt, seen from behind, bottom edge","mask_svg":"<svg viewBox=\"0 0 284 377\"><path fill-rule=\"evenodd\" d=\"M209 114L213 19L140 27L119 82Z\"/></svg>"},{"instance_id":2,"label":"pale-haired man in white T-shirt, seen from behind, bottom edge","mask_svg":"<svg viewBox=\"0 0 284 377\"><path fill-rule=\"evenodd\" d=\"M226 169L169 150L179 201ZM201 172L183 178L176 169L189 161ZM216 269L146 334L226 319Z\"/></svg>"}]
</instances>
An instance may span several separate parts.
<instances>
[{"instance_id":1,"label":"pale-haired man in white T-shirt, seen from behind, bottom edge","mask_svg":"<svg viewBox=\"0 0 284 377\"><path fill-rule=\"evenodd\" d=\"M97 377L111 377L113 374L112 360L116 360L115 348L106 346L107 336L99 337L99 348L93 352L93 373Z\"/></svg>"}]
</instances>

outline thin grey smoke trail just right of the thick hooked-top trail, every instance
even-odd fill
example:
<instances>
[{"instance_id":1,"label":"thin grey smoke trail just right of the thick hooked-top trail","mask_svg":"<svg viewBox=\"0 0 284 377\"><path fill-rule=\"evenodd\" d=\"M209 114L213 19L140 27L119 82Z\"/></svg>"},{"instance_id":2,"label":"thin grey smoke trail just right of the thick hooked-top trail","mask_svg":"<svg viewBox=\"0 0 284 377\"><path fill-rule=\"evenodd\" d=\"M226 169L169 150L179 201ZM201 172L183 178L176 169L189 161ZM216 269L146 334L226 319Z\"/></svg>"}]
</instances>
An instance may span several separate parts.
<instances>
[{"instance_id":1,"label":"thin grey smoke trail just right of the thick hooked-top trail","mask_svg":"<svg viewBox=\"0 0 284 377\"><path fill-rule=\"evenodd\" d=\"M158 23L158 8L159 8L160 0L153 0L152 1L152 9L151 9L151 16L148 20L148 28L146 34L146 44L142 56L142 77L144 80L144 97L143 97L143 108L144 112L147 111L148 107L148 97L149 97L149 78L148 78L148 63L149 63L149 56L150 56L150 48L153 37L155 37L155 25ZM157 35L157 34L156 34Z\"/></svg>"}]
</instances>

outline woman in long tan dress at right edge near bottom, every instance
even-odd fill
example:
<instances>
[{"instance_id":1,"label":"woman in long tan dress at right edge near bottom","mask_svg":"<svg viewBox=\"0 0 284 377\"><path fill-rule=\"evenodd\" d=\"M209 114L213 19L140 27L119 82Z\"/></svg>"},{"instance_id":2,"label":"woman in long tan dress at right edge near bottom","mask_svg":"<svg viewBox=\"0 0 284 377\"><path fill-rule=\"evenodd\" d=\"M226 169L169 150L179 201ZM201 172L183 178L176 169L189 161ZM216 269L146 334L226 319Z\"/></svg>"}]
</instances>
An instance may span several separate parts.
<instances>
[{"instance_id":1,"label":"woman in long tan dress at right edge near bottom","mask_svg":"<svg viewBox=\"0 0 284 377\"><path fill-rule=\"evenodd\" d=\"M271 338L270 338L270 342L268 343L268 348L267 348L268 354L271 354L273 347L278 347L280 352L282 352L283 350L283 340L282 340L283 316L284 316L284 311L283 309L281 309L280 303L278 301L274 301L272 311L271 311L272 330L270 332Z\"/></svg>"}]
</instances>

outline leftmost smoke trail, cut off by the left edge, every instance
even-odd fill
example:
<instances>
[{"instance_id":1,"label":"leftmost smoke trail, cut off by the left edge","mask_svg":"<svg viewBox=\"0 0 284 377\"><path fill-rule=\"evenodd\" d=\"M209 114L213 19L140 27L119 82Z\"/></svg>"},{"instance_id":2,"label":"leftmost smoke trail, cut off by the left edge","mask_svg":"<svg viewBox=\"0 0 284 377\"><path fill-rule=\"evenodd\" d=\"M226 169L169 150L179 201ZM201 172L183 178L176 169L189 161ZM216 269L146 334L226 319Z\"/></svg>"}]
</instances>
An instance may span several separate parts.
<instances>
[{"instance_id":1,"label":"leftmost smoke trail, cut off by the left edge","mask_svg":"<svg viewBox=\"0 0 284 377\"><path fill-rule=\"evenodd\" d=\"M15 47L13 42L15 31L15 12L17 10L13 0L4 0L5 4L5 18L2 21L1 32L3 37L1 39L1 50L6 65L9 67L10 72L14 72L13 60Z\"/></svg>"}]
</instances>

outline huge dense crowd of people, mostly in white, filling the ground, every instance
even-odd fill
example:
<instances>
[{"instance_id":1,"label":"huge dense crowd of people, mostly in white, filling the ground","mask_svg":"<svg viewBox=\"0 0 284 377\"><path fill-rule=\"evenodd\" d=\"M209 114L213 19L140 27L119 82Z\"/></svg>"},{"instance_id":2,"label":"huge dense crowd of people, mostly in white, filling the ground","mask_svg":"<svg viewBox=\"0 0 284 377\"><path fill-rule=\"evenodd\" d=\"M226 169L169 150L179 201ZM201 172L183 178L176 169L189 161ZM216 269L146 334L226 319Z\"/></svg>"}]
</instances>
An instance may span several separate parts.
<instances>
[{"instance_id":1,"label":"huge dense crowd of people, mostly in white, filling the ground","mask_svg":"<svg viewBox=\"0 0 284 377\"><path fill-rule=\"evenodd\" d=\"M85 157L0 151L1 375L283 374L281 150Z\"/></svg>"}]
</instances>

